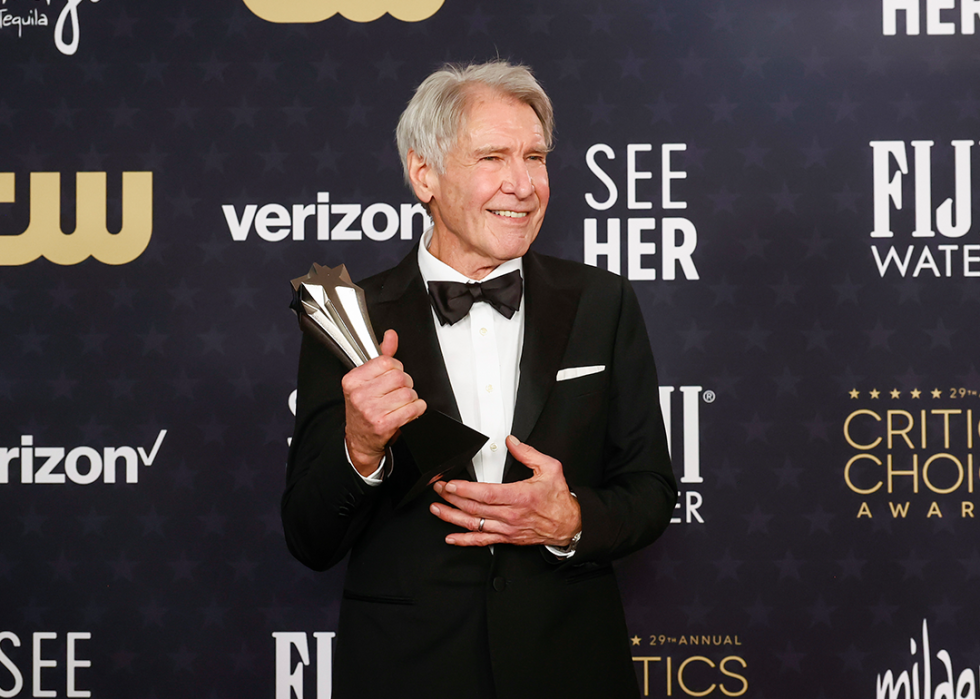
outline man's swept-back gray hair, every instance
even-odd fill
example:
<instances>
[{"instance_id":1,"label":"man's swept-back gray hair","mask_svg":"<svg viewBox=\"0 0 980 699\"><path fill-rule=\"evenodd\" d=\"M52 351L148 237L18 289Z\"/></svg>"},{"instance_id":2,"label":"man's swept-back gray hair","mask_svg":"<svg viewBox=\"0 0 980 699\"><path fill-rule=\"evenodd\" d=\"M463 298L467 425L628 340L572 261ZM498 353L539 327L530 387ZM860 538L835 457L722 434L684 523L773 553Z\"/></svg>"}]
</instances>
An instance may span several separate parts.
<instances>
[{"instance_id":1,"label":"man's swept-back gray hair","mask_svg":"<svg viewBox=\"0 0 980 699\"><path fill-rule=\"evenodd\" d=\"M507 61L447 63L422 81L398 120L398 155L408 177L408 151L415 151L436 172L445 172L446 155L456 145L463 113L474 88L489 87L523 102L538 116L545 145L551 149L555 115L551 100L527 66Z\"/></svg>"}]
</instances>

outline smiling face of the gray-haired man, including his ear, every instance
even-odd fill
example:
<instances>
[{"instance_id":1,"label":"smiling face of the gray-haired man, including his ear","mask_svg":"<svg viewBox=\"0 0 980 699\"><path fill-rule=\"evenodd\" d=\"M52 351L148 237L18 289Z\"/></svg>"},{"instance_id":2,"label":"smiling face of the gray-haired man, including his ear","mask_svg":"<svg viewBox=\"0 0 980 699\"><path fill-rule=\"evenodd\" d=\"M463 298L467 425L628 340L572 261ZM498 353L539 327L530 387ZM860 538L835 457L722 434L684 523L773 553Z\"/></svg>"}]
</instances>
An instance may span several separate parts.
<instances>
[{"instance_id":1,"label":"smiling face of the gray-haired man, including his ear","mask_svg":"<svg viewBox=\"0 0 980 699\"><path fill-rule=\"evenodd\" d=\"M434 223L429 252L471 279L521 257L538 235L550 190L544 130L523 102L481 87L438 173L409 151L409 175Z\"/></svg>"}]
</instances>

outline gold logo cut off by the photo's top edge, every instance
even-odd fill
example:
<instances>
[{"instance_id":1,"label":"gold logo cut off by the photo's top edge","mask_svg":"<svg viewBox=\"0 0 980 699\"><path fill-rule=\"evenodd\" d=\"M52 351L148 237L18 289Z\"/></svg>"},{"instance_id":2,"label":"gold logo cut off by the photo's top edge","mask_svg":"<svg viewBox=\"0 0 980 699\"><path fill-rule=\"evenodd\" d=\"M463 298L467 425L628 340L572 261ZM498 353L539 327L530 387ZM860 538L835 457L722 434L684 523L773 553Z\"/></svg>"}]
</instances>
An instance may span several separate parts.
<instances>
[{"instance_id":1,"label":"gold logo cut off by the photo's top edge","mask_svg":"<svg viewBox=\"0 0 980 699\"><path fill-rule=\"evenodd\" d=\"M245 0L267 22L322 22L341 14L352 22L373 22L386 12L403 22L428 19L445 0Z\"/></svg>"}]
</instances>

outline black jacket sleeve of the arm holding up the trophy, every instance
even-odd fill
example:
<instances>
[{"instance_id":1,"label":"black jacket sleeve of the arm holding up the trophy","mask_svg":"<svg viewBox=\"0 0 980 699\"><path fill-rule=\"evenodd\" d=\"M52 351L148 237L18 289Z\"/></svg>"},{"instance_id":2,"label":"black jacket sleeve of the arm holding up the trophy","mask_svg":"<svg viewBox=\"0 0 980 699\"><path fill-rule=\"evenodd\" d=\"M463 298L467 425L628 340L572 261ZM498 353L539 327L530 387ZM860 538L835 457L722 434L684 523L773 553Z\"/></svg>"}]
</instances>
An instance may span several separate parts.
<instances>
[{"instance_id":1,"label":"black jacket sleeve of the arm holding up the trophy","mask_svg":"<svg viewBox=\"0 0 980 699\"><path fill-rule=\"evenodd\" d=\"M303 336L282 524L289 551L314 570L347 554L381 490L364 483L347 460L345 371L328 349Z\"/></svg>"}]
</instances>

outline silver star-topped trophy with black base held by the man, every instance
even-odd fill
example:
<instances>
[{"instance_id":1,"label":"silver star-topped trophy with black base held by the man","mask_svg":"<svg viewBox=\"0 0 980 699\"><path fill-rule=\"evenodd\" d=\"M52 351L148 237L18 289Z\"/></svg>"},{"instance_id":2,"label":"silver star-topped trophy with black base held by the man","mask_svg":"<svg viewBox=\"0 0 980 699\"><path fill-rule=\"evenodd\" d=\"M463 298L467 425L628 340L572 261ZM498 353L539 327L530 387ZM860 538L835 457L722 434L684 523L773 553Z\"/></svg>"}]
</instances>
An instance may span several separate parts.
<instances>
[{"instance_id":1,"label":"silver star-topped trophy with black base held by the man","mask_svg":"<svg viewBox=\"0 0 980 699\"><path fill-rule=\"evenodd\" d=\"M351 281L344 265L331 269L314 263L309 274L292 280L292 287L289 307L296 312L300 328L326 345L348 369L380 356L364 290ZM426 410L404 425L400 437L414 465L400 461L385 481L400 497L399 507L434 480L459 475L487 441L485 435L435 410Z\"/></svg>"}]
</instances>

